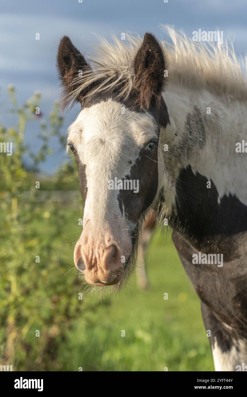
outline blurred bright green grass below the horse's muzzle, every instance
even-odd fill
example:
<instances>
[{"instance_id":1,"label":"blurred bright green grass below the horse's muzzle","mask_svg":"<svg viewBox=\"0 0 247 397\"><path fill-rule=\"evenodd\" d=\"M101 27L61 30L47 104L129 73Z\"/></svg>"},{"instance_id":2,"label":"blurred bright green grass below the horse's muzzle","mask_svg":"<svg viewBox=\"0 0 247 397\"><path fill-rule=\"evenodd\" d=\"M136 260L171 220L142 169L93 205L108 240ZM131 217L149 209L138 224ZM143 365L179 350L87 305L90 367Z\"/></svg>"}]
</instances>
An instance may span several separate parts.
<instances>
[{"instance_id":1,"label":"blurred bright green grass below the horse's muzzle","mask_svg":"<svg viewBox=\"0 0 247 397\"><path fill-rule=\"evenodd\" d=\"M150 288L136 287L136 275L118 295L93 303L70 324L68 342L57 354L66 371L213 371L200 302L171 241L159 232L147 252ZM168 293L168 299L164 299ZM125 336L123 333L125 332Z\"/></svg>"}]
</instances>

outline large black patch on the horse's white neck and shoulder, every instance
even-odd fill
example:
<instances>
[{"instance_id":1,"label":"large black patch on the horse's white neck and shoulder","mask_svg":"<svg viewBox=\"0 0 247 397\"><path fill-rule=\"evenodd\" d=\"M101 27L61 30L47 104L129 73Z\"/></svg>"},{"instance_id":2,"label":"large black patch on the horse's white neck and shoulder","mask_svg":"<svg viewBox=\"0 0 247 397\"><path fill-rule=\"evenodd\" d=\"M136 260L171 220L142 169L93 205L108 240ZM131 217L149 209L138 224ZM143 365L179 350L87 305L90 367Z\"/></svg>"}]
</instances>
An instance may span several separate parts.
<instances>
[{"instance_id":1,"label":"large black patch on the horse's white neck and shoulder","mask_svg":"<svg viewBox=\"0 0 247 397\"><path fill-rule=\"evenodd\" d=\"M173 227L198 242L247 231L247 206L231 194L222 197L218 204L216 186L211 180L211 189L207 189L207 181L198 172L194 174L191 166L180 170L176 181L176 211L171 216Z\"/></svg>"}]
</instances>

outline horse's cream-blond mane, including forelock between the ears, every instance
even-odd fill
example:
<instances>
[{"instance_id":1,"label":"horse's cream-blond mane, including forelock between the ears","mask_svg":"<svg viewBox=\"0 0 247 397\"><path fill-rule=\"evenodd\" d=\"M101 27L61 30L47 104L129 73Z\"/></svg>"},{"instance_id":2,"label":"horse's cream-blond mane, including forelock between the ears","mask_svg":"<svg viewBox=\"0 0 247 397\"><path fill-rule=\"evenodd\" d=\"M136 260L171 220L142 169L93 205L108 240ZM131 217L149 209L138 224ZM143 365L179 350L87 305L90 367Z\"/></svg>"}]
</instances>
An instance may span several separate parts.
<instances>
[{"instance_id":1,"label":"horse's cream-blond mane, including forelock between the ears","mask_svg":"<svg viewBox=\"0 0 247 397\"><path fill-rule=\"evenodd\" d=\"M160 41L168 61L167 91L169 85L174 84L193 90L205 89L222 98L230 95L235 100L247 100L247 58L237 60L232 42L195 42L183 31L161 27L170 39ZM115 89L119 96L127 98L134 88L133 61L142 38L127 33L125 40L113 36L111 43L98 39L98 44L93 44L95 55L90 58L92 70L74 79L72 85L77 83L76 88L64 98L65 102L72 103L80 91L95 82L100 83L86 96Z\"/></svg>"}]
</instances>

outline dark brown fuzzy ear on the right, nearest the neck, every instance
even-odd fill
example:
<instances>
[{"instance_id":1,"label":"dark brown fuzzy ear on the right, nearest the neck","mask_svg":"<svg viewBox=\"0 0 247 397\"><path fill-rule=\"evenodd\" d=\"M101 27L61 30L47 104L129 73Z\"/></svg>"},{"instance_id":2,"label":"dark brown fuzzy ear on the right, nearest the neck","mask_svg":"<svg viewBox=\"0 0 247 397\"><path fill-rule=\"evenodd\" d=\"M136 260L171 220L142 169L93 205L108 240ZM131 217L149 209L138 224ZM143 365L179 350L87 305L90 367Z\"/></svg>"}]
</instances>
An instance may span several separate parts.
<instances>
[{"instance_id":1,"label":"dark brown fuzzy ear on the right, nearest the neck","mask_svg":"<svg viewBox=\"0 0 247 397\"><path fill-rule=\"evenodd\" d=\"M134 85L139 91L140 105L149 109L152 98L158 99L165 87L166 59L159 42L146 33L134 60Z\"/></svg>"}]
</instances>

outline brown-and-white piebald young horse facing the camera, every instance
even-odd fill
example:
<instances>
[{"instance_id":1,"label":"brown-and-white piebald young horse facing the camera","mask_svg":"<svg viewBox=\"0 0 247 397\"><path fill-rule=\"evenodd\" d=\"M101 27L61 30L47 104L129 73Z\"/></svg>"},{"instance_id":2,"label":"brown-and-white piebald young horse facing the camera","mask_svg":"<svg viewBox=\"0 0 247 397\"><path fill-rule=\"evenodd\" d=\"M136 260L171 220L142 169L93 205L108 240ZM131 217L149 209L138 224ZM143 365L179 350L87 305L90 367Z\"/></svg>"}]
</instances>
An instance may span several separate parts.
<instances>
[{"instance_id":1,"label":"brown-and-white piebald young horse facing the camera","mask_svg":"<svg viewBox=\"0 0 247 397\"><path fill-rule=\"evenodd\" d=\"M88 63L69 37L57 52L62 107L84 201L74 262L118 290L150 210L172 228L201 301L216 371L247 363L247 83L233 46L173 27L100 38Z\"/></svg>"}]
</instances>

